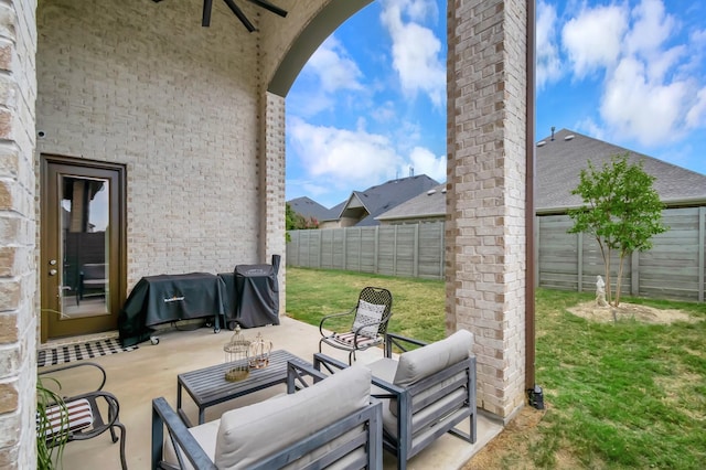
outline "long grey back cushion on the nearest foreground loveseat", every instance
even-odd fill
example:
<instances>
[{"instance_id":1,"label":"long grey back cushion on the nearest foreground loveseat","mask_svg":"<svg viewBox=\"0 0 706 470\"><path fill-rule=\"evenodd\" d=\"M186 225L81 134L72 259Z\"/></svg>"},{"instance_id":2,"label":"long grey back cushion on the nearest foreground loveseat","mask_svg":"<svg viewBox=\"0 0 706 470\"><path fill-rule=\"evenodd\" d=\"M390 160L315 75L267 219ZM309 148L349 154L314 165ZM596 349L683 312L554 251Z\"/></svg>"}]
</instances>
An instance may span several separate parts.
<instances>
[{"instance_id":1,"label":"long grey back cushion on the nearest foreground loveseat","mask_svg":"<svg viewBox=\"0 0 706 470\"><path fill-rule=\"evenodd\" d=\"M221 417L215 463L247 468L370 403L371 372L345 368L291 395L233 409Z\"/></svg>"}]
</instances>

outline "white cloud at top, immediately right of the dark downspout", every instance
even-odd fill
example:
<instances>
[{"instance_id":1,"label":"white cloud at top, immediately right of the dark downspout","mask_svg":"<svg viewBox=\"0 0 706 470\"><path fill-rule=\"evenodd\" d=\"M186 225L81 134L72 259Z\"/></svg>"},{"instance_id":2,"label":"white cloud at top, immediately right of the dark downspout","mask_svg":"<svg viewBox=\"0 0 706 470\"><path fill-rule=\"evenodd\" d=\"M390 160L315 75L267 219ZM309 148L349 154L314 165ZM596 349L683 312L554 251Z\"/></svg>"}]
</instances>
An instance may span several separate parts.
<instances>
[{"instance_id":1,"label":"white cloud at top, immediately right of the dark downspout","mask_svg":"<svg viewBox=\"0 0 706 470\"><path fill-rule=\"evenodd\" d=\"M561 60L555 38L556 9L554 6L541 1L537 4L537 89L555 82L561 76Z\"/></svg>"}]
</instances>

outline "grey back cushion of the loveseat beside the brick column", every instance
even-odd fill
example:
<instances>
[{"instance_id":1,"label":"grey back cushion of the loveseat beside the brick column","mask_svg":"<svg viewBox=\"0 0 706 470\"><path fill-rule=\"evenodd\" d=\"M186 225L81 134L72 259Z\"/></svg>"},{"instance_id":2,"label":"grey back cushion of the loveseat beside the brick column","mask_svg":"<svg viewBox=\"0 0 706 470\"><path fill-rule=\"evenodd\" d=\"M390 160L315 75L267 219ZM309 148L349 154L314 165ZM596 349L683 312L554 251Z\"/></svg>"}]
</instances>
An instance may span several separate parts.
<instances>
[{"instance_id":1,"label":"grey back cushion of the loveseat beside the brick column","mask_svg":"<svg viewBox=\"0 0 706 470\"><path fill-rule=\"evenodd\" d=\"M395 380L399 386L408 386L439 371L470 357L473 333L459 330L449 338L408 351L399 356Z\"/></svg>"}]
</instances>

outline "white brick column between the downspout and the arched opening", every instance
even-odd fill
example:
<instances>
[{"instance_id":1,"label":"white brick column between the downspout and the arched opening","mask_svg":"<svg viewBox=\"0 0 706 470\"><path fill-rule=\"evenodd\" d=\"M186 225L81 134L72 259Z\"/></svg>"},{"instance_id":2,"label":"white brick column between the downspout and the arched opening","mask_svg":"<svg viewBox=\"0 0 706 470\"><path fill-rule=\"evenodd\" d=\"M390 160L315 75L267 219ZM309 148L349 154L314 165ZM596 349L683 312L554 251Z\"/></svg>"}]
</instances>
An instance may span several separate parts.
<instances>
[{"instance_id":1,"label":"white brick column between the downspout and the arched opening","mask_svg":"<svg viewBox=\"0 0 706 470\"><path fill-rule=\"evenodd\" d=\"M525 398L527 6L448 3L447 330L475 335L479 406Z\"/></svg>"}]
</instances>

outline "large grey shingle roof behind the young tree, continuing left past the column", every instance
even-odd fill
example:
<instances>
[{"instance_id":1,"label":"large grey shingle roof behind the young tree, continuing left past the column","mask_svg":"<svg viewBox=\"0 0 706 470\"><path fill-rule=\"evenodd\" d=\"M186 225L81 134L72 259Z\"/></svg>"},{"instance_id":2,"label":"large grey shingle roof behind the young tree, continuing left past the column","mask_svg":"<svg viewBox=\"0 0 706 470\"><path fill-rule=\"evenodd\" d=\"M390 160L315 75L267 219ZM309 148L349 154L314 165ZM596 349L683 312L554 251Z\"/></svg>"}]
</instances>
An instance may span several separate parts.
<instances>
[{"instance_id":1,"label":"large grey shingle roof behind the young tree, continuing left past the column","mask_svg":"<svg viewBox=\"0 0 706 470\"><path fill-rule=\"evenodd\" d=\"M571 137L573 136L573 137ZM561 129L537 142L536 195L537 212L564 211L582 204L579 195L571 194L578 186L581 170L590 160L598 170L612 156L629 153L629 161L642 161L643 170L656 180L653 188L667 204L706 202L706 175L657 160L629 149L613 146L571 130ZM442 188L440 185L439 188ZM378 221L422 218L446 214L446 193L419 195L381 214Z\"/></svg>"}]
</instances>

